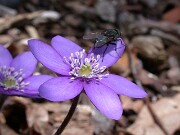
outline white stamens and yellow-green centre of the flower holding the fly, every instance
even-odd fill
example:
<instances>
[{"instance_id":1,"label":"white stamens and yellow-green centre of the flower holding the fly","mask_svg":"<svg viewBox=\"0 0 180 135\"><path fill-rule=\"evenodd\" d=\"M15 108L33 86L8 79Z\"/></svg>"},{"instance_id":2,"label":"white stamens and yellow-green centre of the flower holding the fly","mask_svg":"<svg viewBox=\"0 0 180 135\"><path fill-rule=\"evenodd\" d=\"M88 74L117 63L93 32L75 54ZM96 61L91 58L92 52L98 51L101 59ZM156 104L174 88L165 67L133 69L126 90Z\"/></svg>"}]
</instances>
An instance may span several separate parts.
<instances>
[{"instance_id":1,"label":"white stamens and yellow-green centre of the flower holding the fly","mask_svg":"<svg viewBox=\"0 0 180 135\"><path fill-rule=\"evenodd\" d=\"M86 53L83 49L80 52L71 53L69 60L64 57L64 60L67 64L72 67L72 70L69 72L71 79L76 78L88 78L88 79L97 79L100 80L104 76L108 75L106 71L106 66L99 68L100 55L95 57L94 53L90 54L90 57L85 57Z\"/></svg>"}]
</instances>

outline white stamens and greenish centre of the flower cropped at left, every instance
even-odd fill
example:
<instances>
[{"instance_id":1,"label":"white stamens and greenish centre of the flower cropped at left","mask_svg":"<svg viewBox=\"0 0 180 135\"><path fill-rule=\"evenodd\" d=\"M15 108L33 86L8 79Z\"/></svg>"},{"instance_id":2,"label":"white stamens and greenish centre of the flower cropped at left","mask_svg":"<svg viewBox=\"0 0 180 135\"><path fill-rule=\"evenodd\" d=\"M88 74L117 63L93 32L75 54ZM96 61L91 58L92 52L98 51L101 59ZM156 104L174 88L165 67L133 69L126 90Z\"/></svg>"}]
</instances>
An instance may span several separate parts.
<instances>
[{"instance_id":1,"label":"white stamens and greenish centre of the flower cropped at left","mask_svg":"<svg viewBox=\"0 0 180 135\"><path fill-rule=\"evenodd\" d=\"M4 90L20 90L29 85L28 82L24 82L24 74L22 69L15 71L13 67L0 67L0 87Z\"/></svg>"}]
</instances>

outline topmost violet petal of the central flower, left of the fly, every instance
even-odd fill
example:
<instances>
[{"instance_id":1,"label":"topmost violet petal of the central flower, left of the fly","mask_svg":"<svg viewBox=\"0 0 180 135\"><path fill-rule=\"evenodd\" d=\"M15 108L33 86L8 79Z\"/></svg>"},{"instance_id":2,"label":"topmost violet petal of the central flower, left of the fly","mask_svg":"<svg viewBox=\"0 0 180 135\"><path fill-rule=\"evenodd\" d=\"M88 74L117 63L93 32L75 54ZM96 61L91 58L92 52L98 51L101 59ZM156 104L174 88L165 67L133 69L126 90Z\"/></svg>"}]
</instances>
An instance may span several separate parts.
<instances>
[{"instance_id":1,"label":"topmost violet petal of the central flower, left of the fly","mask_svg":"<svg viewBox=\"0 0 180 135\"><path fill-rule=\"evenodd\" d=\"M66 58L69 58L71 53L75 53L77 51L82 50L82 48L79 45L61 36L55 36L54 38L52 38L51 44L53 48L62 57L66 57Z\"/></svg>"}]
</instances>

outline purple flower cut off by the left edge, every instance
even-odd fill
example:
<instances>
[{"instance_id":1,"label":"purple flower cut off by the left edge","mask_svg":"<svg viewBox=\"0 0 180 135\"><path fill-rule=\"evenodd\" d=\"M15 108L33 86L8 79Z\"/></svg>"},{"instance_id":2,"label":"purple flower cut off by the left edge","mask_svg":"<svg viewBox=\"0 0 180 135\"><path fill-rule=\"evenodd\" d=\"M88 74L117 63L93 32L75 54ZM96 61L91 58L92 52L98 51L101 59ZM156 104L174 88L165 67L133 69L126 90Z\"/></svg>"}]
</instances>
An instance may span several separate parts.
<instances>
[{"instance_id":1,"label":"purple flower cut off by the left edge","mask_svg":"<svg viewBox=\"0 0 180 135\"><path fill-rule=\"evenodd\" d=\"M31 76L36 65L37 60L31 52L24 52L13 59L9 51L0 45L0 93L40 98L39 86L52 77Z\"/></svg>"}]
</instances>

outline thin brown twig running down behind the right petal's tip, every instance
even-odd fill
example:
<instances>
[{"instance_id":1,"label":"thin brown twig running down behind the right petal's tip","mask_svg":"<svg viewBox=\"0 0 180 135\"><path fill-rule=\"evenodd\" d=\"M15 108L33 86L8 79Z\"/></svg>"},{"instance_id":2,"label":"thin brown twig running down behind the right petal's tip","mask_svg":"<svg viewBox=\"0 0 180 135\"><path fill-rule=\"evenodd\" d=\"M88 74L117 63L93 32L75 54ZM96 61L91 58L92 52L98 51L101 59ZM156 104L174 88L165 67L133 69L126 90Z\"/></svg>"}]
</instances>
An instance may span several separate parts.
<instances>
[{"instance_id":1,"label":"thin brown twig running down behind the right petal's tip","mask_svg":"<svg viewBox=\"0 0 180 135\"><path fill-rule=\"evenodd\" d=\"M137 70L135 68L135 65L134 65L134 61L133 61L133 58L132 58L132 55L131 55L131 52L130 52L130 48L127 46L127 53L128 53L128 58L129 58L129 63L130 63L130 69L132 71L132 75L133 75L133 79L135 81L135 83L140 86L141 88L143 88L142 84L141 84L141 81L136 77L137 75ZM167 130L164 128L164 126L162 125L162 123L160 122L159 118L157 117L157 115L154 113L151 105L150 105L150 102L149 102L149 99L146 97L145 100L144 100L145 104L147 105L148 107L148 110L149 112L151 113L151 116L152 118L154 119L155 123L159 126L159 128L164 132L165 135L168 135L168 132Z\"/></svg>"}]
</instances>

